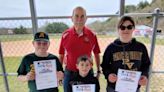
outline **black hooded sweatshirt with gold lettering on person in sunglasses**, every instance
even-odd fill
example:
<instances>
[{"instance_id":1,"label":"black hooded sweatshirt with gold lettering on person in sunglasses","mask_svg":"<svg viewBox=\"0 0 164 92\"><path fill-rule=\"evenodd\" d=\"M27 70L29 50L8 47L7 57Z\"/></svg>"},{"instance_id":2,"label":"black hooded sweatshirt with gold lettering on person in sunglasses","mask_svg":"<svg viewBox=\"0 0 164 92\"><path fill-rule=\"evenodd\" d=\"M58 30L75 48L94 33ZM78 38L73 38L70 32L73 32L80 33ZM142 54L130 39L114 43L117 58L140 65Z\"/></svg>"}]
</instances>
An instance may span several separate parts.
<instances>
[{"instance_id":1,"label":"black hooded sweatshirt with gold lettering on person in sunglasses","mask_svg":"<svg viewBox=\"0 0 164 92\"><path fill-rule=\"evenodd\" d=\"M115 83L108 81L111 73L117 75L118 69L141 71L141 75L148 77L150 59L144 44L136 41L135 38L129 43L122 43L116 39L106 48L101 64L103 74L108 86L115 89ZM139 88L140 86L138 86Z\"/></svg>"}]
</instances>

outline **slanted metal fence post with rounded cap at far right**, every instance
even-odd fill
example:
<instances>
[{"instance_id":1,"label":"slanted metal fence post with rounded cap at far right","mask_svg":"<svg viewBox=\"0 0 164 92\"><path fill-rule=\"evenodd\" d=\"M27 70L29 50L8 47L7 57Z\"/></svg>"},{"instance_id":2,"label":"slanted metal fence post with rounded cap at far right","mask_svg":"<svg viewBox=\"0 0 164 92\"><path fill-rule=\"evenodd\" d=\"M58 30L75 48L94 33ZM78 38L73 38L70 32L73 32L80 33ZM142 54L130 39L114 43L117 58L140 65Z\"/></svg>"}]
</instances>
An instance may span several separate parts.
<instances>
[{"instance_id":1,"label":"slanted metal fence post with rounded cap at far right","mask_svg":"<svg viewBox=\"0 0 164 92\"><path fill-rule=\"evenodd\" d=\"M153 18L153 35L152 35L151 47L150 47L151 65L150 65L150 68L149 68L149 79L148 79L148 83L147 83L147 86L146 86L146 92L149 92L149 89L150 89L150 80L151 80L151 73L152 73L152 65L153 65L153 58L154 58L154 48L155 48L156 32L157 32L157 26L158 26L159 13L160 13L159 8L156 8L154 10L154 18Z\"/></svg>"}]
</instances>

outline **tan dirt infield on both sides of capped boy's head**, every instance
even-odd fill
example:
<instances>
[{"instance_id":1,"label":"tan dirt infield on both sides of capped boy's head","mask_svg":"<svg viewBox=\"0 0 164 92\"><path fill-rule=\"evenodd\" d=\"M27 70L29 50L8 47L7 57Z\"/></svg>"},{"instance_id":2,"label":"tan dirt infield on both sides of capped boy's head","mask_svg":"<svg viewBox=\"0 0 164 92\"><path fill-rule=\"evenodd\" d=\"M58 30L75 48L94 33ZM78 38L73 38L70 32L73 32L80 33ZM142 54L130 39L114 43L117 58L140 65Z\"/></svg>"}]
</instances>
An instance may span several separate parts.
<instances>
[{"instance_id":1,"label":"tan dirt infield on both sides of capped boy's head","mask_svg":"<svg viewBox=\"0 0 164 92\"><path fill-rule=\"evenodd\" d=\"M49 52L57 54L59 41L51 40ZM3 56L24 56L28 53L34 52L31 40L14 41L2 43Z\"/></svg>"}]
</instances>

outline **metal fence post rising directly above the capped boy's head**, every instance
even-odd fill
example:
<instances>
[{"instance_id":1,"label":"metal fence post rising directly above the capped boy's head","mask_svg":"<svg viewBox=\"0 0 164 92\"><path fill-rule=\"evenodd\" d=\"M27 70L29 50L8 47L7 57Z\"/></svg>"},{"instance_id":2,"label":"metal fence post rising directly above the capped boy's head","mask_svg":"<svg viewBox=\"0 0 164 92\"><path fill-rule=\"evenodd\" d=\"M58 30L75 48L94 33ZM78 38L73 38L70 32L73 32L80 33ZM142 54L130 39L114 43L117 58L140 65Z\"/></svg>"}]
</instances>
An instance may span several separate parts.
<instances>
[{"instance_id":1,"label":"metal fence post rising directly above the capped boy's head","mask_svg":"<svg viewBox=\"0 0 164 92\"><path fill-rule=\"evenodd\" d=\"M32 30L33 34L35 34L38 31L38 21L37 21L37 15L35 10L35 2L34 0L30 1L30 11L31 11L31 20L32 20Z\"/></svg>"}]
</instances>

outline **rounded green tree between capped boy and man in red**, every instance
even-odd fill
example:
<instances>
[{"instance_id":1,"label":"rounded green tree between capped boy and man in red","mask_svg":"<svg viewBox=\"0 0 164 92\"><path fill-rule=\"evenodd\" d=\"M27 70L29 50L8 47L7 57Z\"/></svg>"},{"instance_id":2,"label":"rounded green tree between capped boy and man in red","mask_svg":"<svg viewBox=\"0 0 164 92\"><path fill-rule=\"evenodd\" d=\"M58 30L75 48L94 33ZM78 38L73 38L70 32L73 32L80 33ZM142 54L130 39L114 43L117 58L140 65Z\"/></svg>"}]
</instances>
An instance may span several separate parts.
<instances>
[{"instance_id":1,"label":"rounded green tree between capped boy and man in red","mask_svg":"<svg viewBox=\"0 0 164 92\"><path fill-rule=\"evenodd\" d=\"M68 29L68 25L62 22L49 23L45 27L45 31L48 33L62 33L64 30Z\"/></svg>"}]
</instances>

